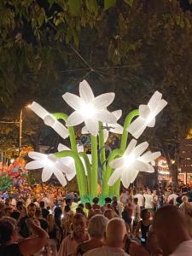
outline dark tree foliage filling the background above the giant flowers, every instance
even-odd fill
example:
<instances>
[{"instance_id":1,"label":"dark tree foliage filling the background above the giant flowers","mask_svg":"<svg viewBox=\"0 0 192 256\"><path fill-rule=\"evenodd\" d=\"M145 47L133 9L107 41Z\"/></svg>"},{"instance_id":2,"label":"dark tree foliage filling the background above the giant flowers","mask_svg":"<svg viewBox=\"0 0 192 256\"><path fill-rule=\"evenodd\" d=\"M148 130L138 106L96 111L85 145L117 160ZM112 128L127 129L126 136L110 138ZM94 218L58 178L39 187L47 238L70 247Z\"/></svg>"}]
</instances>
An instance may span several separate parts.
<instances>
[{"instance_id":1,"label":"dark tree foliage filling the background above the giant flowers","mask_svg":"<svg viewBox=\"0 0 192 256\"><path fill-rule=\"evenodd\" d=\"M177 156L192 126L192 14L177 0L3 0L0 32L2 117L33 100L68 113L61 95L82 79L124 117L160 90L169 105L143 139Z\"/></svg>"}]
</instances>

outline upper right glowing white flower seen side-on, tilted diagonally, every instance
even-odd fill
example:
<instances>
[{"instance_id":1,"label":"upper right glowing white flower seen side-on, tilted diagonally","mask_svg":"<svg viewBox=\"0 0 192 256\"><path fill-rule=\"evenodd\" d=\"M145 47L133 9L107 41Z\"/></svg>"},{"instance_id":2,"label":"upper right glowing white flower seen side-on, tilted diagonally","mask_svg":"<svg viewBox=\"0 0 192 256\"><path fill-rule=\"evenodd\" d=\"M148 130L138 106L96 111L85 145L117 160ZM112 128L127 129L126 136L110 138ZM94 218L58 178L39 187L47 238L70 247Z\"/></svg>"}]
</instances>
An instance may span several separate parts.
<instances>
[{"instance_id":1,"label":"upper right glowing white flower seen side-on, tilted diagonally","mask_svg":"<svg viewBox=\"0 0 192 256\"><path fill-rule=\"evenodd\" d=\"M156 115L166 107L166 104L167 102L162 99L162 94L156 90L150 98L148 105L139 106L139 117L128 127L131 135L138 138L146 127L154 127Z\"/></svg>"}]
</instances>

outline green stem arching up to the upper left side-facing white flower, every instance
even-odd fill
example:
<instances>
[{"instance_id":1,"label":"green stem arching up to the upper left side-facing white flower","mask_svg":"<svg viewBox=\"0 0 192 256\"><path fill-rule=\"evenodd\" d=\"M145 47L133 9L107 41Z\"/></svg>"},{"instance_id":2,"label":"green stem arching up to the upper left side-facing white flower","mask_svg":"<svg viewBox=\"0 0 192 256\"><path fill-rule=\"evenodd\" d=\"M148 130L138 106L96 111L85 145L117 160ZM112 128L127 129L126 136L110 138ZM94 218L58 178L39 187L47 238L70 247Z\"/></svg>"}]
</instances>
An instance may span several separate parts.
<instances>
[{"instance_id":1,"label":"green stem arching up to the upper left side-facing white flower","mask_svg":"<svg viewBox=\"0 0 192 256\"><path fill-rule=\"evenodd\" d=\"M65 122L67 121L67 118L68 118L66 113L54 113L54 116L55 116L55 119L63 119ZM75 139L75 133L74 133L73 126L68 127L68 133L69 133L71 148L74 153L78 153L78 148L77 148L77 143L76 143L76 139ZM82 162L81 162L81 164L82 164ZM82 191L84 191L84 189L86 189L86 193L87 193L87 177L85 176L84 172L81 172L79 170L79 165L76 163L76 161L75 161L75 168L76 168L77 180L78 180L78 184L79 184L79 193L82 194L83 193ZM84 166L83 166L83 170L84 170ZM84 184L83 188L82 188L81 184Z\"/></svg>"}]
</instances>

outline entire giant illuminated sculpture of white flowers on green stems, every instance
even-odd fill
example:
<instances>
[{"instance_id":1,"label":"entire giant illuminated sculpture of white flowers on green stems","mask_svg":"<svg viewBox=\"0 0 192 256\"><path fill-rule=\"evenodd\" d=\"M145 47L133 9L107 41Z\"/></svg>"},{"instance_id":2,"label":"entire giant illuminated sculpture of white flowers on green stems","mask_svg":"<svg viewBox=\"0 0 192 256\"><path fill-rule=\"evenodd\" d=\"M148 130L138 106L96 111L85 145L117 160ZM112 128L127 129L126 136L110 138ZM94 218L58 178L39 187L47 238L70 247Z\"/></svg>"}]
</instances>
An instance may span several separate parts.
<instances>
[{"instance_id":1,"label":"entire giant illuminated sculpture of white flowers on green stems","mask_svg":"<svg viewBox=\"0 0 192 256\"><path fill-rule=\"evenodd\" d=\"M121 110L110 113L107 109L113 102L114 94L105 93L95 97L85 80L79 84L79 96L67 92L63 99L74 109L69 116L66 113L49 113L36 102L32 103L32 110L61 137L68 135L71 148L59 144L55 154L30 153L33 161L26 165L26 169L43 168L43 181L54 173L62 185L67 183L66 177L70 180L76 174L81 201L91 201L93 197L100 196L101 203L107 196L119 196L120 180L127 188L138 172L154 172L151 161L158 158L160 152L146 151L147 142L137 144L137 140L132 139L128 144L127 141L128 131L138 138L146 127L154 126L156 115L167 104L159 91L154 92L147 105L140 105L139 109L131 111L125 118L124 126L117 123L122 115ZM62 125L64 134L59 119L66 123L67 128ZM84 152L84 143L77 144L74 133L73 126L83 122L82 133L90 136L91 156ZM119 148L109 152L107 158L105 142L109 131L122 135Z\"/></svg>"}]
</instances>

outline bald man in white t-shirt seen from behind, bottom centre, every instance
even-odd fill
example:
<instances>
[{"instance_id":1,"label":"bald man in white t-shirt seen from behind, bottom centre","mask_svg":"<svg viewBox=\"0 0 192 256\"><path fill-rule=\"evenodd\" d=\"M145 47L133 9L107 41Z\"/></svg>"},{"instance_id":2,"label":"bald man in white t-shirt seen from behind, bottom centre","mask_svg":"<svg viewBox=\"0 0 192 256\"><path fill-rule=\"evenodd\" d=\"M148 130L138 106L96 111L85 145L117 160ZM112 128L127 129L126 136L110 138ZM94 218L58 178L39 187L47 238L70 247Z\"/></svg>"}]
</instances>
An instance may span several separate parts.
<instances>
[{"instance_id":1,"label":"bald man in white t-shirt seen from behind, bottom centre","mask_svg":"<svg viewBox=\"0 0 192 256\"><path fill-rule=\"evenodd\" d=\"M126 226L122 218L112 218L106 229L106 245L90 250L84 256L128 256L123 250Z\"/></svg>"}]
</instances>

